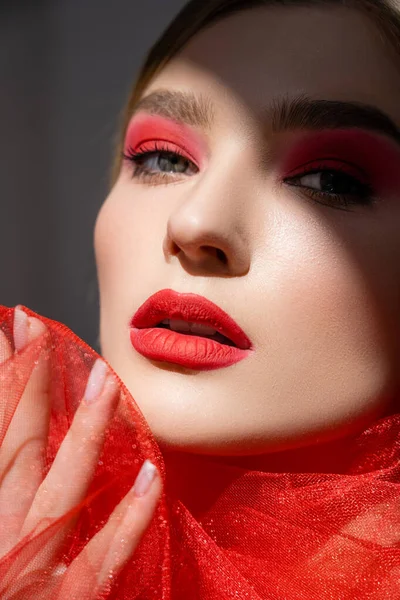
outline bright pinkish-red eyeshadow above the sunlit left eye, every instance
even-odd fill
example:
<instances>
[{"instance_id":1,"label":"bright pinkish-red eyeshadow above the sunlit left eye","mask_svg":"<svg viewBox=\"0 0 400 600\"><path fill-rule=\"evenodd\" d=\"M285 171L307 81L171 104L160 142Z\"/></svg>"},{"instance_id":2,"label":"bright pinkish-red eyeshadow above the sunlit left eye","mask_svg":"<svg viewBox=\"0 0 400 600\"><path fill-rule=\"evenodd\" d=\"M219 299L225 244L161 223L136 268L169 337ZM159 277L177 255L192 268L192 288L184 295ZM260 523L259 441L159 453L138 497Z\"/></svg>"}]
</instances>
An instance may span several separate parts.
<instances>
[{"instance_id":1,"label":"bright pinkish-red eyeshadow above the sunlit left eye","mask_svg":"<svg viewBox=\"0 0 400 600\"><path fill-rule=\"evenodd\" d=\"M149 142L166 142L181 149L187 158L201 168L207 157L205 141L193 129L158 115L135 115L128 126L125 138L125 151L128 148L138 150ZM173 149L172 149L173 150Z\"/></svg>"}]
</instances>

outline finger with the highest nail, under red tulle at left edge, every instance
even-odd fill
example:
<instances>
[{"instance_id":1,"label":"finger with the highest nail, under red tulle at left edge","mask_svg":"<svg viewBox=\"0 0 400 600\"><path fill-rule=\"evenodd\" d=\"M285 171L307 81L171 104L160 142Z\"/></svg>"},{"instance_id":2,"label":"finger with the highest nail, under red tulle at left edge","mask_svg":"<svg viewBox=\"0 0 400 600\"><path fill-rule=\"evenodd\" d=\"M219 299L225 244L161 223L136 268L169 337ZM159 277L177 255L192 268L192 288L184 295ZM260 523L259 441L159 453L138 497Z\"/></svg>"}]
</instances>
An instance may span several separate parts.
<instances>
[{"instance_id":1,"label":"finger with the highest nail, under red tulle at left edge","mask_svg":"<svg viewBox=\"0 0 400 600\"><path fill-rule=\"evenodd\" d=\"M16 352L21 352L27 344L44 336L46 327L17 307L14 311L13 333ZM9 352L10 347L6 354ZM2 522L7 524L7 531L2 529L1 532L2 552L15 543L43 478L49 423L48 386L49 365L44 345L1 447L0 515Z\"/></svg>"}]
</instances>

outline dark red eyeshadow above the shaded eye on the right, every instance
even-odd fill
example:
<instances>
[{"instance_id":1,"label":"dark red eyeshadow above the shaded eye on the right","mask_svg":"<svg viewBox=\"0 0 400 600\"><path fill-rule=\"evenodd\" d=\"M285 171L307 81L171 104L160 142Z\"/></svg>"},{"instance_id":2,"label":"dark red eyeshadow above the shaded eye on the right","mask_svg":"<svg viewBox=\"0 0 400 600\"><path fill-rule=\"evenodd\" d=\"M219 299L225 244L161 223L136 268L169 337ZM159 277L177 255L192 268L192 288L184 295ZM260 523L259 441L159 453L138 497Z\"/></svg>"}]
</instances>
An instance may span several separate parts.
<instances>
[{"instance_id":1,"label":"dark red eyeshadow above the shaded eye on the right","mask_svg":"<svg viewBox=\"0 0 400 600\"><path fill-rule=\"evenodd\" d=\"M307 163L324 160L348 163L378 193L400 192L400 147L383 135L360 129L300 133L283 157L281 175L290 177Z\"/></svg>"}]
</instances>

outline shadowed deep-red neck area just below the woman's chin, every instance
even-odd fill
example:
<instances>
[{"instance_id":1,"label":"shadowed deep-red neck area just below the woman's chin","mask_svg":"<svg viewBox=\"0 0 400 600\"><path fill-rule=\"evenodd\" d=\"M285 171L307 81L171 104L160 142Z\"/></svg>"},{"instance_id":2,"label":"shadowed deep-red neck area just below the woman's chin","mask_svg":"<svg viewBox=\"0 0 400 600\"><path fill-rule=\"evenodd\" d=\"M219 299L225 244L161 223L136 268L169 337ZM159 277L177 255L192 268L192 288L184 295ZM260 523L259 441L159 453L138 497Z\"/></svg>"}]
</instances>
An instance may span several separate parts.
<instances>
[{"instance_id":1,"label":"shadowed deep-red neck area just below the woman's chin","mask_svg":"<svg viewBox=\"0 0 400 600\"><path fill-rule=\"evenodd\" d=\"M382 428L374 428L374 433L367 436L367 439L364 438L362 443L357 443L356 440L362 431L376 424L381 418L393 417L397 423L397 413L397 405L395 400L392 400L385 406L364 415L359 422L342 429L341 436L338 438L318 443L314 439L314 443L310 441L301 447L280 452L221 456L166 449L163 451L163 456L169 492L181 500L195 518L201 518L215 504L224 490L248 471L350 475L365 468L380 468L382 466L380 463L385 460L384 453L377 453L376 448L381 447L380 436L385 436ZM389 421L386 422L386 426L390 428ZM397 435L396 423L394 425Z\"/></svg>"}]
</instances>

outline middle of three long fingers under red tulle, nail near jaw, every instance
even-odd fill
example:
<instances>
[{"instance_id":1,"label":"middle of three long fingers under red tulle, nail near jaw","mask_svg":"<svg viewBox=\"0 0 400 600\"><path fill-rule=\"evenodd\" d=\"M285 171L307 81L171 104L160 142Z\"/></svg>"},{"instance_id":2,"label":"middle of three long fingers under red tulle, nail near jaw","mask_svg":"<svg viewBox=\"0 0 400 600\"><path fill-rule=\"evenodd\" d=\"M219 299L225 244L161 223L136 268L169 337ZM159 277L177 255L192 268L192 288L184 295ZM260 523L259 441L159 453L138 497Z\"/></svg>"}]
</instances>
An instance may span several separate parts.
<instances>
[{"instance_id":1,"label":"middle of three long fingers under red tulle, nail near jaw","mask_svg":"<svg viewBox=\"0 0 400 600\"><path fill-rule=\"evenodd\" d=\"M49 473L40 485L21 535L59 518L79 505L97 467L106 427L118 402L118 384L98 359ZM37 531L40 531L37 529Z\"/></svg>"}]
</instances>

